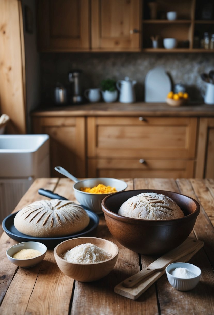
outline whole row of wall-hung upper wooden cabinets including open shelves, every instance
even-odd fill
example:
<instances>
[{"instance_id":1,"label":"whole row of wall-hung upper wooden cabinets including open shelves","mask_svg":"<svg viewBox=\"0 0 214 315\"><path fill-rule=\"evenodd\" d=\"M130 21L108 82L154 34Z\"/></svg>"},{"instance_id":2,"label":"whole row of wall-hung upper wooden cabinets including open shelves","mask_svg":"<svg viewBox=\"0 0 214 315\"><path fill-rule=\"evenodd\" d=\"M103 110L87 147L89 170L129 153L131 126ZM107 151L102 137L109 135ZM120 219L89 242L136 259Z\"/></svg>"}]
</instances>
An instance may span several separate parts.
<instances>
[{"instance_id":1,"label":"whole row of wall-hung upper wooden cabinets including open shelves","mask_svg":"<svg viewBox=\"0 0 214 315\"><path fill-rule=\"evenodd\" d=\"M213 52L201 47L204 33L214 33L214 20L203 20L201 12L206 3L200 0L36 3L40 51ZM176 20L167 20L169 11L177 12ZM152 36L158 36L158 48L152 48ZM176 38L178 45L165 49L163 38L170 37Z\"/></svg>"}]
</instances>

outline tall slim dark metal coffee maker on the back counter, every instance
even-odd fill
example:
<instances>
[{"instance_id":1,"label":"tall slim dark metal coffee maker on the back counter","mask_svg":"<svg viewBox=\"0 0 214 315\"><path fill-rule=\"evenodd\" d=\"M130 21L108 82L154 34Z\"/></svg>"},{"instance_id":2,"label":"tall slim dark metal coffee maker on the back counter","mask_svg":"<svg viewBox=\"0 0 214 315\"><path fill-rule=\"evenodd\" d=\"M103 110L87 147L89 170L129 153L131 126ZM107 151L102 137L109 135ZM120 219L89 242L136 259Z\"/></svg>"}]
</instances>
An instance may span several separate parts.
<instances>
[{"instance_id":1,"label":"tall slim dark metal coffee maker on the back counter","mask_svg":"<svg viewBox=\"0 0 214 315\"><path fill-rule=\"evenodd\" d=\"M72 83L71 102L73 104L83 103L83 96L81 95L80 75L81 70L74 70L68 74L68 81Z\"/></svg>"}]
</instances>

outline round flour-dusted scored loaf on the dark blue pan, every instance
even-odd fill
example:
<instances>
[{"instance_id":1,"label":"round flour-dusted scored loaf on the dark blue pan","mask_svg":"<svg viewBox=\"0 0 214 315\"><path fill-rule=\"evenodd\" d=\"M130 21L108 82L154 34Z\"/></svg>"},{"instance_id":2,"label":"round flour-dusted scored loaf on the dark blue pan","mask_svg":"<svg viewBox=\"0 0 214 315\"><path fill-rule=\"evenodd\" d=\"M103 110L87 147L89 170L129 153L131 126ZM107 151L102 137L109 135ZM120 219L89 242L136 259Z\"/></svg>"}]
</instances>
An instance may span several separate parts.
<instances>
[{"instance_id":1,"label":"round flour-dusted scored loaf on the dark blue pan","mask_svg":"<svg viewBox=\"0 0 214 315\"><path fill-rule=\"evenodd\" d=\"M39 200L20 210L15 228L34 237L61 237L83 230L89 223L87 212L69 200Z\"/></svg>"}]
</instances>

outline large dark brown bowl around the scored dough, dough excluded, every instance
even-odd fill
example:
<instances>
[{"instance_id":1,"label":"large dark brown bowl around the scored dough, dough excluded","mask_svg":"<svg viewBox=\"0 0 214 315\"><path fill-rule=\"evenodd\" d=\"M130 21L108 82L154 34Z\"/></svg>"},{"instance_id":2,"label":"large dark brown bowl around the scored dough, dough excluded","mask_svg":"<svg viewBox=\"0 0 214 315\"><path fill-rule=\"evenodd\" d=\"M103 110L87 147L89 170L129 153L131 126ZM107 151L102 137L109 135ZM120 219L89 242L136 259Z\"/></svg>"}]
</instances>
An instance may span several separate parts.
<instances>
[{"instance_id":1,"label":"large dark brown bowl around the scored dough, dough excluded","mask_svg":"<svg viewBox=\"0 0 214 315\"><path fill-rule=\"evenodd\" d=\"M156 192L173 199L184 217L172 220L142 220L118 215L120 206L140 193ZM128 190L116 192L102 201L106 224L116 240L128 249L144 255L160 255L179 246L190 235L200 212L199 203L188 196L164 190Z\"/></svg>"}]
</instances>

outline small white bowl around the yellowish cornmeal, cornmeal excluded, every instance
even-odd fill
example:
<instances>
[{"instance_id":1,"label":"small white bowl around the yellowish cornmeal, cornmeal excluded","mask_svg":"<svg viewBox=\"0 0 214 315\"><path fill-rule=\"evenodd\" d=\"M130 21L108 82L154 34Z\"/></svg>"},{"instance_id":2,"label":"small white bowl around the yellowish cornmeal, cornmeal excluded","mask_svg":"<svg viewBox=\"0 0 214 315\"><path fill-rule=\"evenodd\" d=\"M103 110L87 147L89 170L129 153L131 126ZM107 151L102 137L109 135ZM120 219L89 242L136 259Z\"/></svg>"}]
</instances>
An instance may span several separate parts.
<instances>
[{"instance_id":1,"label":"small white bowl around the yellowish cornmeal, cornmeal excluded","mask_svg":"<svg viewBox=\"0 0 214 315\"><path fill-rule=\"evenodd\" d=\"M30 258L30 259L16 259L13 258L13 255L18 252L21 249L36 249L41 252L40 256ZM47 247L39 242L24 242L24 243L18 243L10 248L8 248L6 254L9 259L14 265L27 268L37 265L40 261L42 261L45 258L45 254L47 251Z\"/></svg>"}]
</instances>

